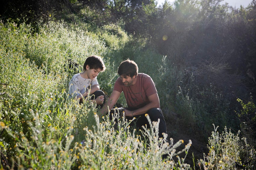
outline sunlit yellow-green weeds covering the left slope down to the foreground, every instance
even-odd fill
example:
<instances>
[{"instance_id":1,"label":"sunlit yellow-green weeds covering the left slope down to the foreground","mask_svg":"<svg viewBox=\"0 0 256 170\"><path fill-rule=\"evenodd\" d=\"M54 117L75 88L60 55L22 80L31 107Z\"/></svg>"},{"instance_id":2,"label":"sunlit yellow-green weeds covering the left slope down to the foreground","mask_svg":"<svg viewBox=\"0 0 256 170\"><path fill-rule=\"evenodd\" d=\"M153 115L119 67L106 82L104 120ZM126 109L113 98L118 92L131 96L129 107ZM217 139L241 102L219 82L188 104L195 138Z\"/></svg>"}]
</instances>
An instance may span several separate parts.
<instances>
[{"instance_id":1,"label":"sunlit yellow-green weeds covering the left slope down to the foreground","mask_svg":"<svg viewBox=\"0 0 256 170\"><path fill-rule=\"evenodd\" d=\"M189 168L184 159L172 159L183 141L159 142L157 123L140 131L124 119L114 125L108 115L98 118L92 103L69 99L74 72L67 70L67 59L83 65L93 54L102 56L108 67L99 82L111 93L120 59L112 61L103 41L55 23L36 34L29 25L8 22L0 27L2 169ZM137 62L149 54L141 52ZM124 104L124 98L119 102ZM180 151L187 152L190 145ZM163 154L171 159L162 160Z\"/></svg>"}]
</instances>

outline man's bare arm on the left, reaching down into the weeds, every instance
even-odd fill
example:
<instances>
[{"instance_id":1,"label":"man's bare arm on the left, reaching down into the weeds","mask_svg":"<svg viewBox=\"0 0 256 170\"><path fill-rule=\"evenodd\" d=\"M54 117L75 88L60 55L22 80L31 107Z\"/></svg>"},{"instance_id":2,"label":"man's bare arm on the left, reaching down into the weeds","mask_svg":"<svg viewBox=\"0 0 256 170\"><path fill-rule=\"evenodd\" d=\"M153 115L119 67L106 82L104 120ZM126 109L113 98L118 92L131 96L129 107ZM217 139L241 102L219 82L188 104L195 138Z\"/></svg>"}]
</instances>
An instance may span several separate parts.
<instances>
[{"instance_id":1,"label":"man's bare arm on the left, reaching down into the weeds","mask_svg":"<svg viewBox=\"0 0 256 170\"><path fill-rule=\"evenodd\" d=\"M112 109L114 105L117 103L118 98L120 97L121 93L119 91L113 91L110 97L108 98L107 102L104 104L104 106L100 110L100 116L105 115L108 112L109 109Z\"/></svg>"}]
</instances>

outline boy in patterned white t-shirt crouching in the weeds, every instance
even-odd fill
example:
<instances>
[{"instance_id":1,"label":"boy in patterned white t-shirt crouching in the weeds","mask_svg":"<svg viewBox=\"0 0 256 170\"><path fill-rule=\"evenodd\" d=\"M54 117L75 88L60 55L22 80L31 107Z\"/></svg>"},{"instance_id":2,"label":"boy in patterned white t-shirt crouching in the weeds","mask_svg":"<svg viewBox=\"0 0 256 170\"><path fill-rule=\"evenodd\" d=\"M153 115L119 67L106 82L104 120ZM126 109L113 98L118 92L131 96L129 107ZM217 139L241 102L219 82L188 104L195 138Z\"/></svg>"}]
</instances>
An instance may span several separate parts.
<instances>
[{"instance_id":1,"label":"boy in patterned white t-shirt crouching in the weeds","mask_svg":"<svg viewBox=\"0 0 256 170\"><path fill-rule=\"evenodd\" d=\"M97 103L97 106L102 106L106 101L106 96L103 91L99 90L100 86L97 81L97 76L101 71L105 71L106 67L103 60L96 55L86 58L83 65L83 72L75 74L69 82L70 97L79 99L79 103L83 103L83 98L86 98L90 89L90 99Z\"/></svg>"}]
</instances>

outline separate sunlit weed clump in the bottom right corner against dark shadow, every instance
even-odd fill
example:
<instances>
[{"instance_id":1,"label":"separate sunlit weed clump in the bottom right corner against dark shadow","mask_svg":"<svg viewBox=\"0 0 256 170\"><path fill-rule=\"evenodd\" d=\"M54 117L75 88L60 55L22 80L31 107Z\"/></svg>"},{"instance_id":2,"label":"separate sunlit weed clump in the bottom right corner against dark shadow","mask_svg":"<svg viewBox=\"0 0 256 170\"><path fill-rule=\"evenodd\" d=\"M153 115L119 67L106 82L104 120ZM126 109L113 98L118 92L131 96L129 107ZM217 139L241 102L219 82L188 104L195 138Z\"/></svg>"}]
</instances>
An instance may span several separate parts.
<instances>
[{"instance_id":1,"label":"separate sunlit weed clump in the bottom right corner against dark shadow","mask_svg":"<svg viewBox=\"0 0 256 170\"><path fill-rule=\"evenodd\" d=\"M247 144L246 138L240 140L240 131L233 134L225 127L219 134L217 128L214 126L208 140L208 155L204 154L204 159L198 160L200 169L254 169L255 148Z\"/></svg>"}]
</instances>

